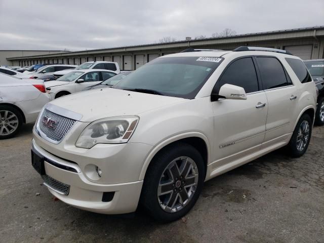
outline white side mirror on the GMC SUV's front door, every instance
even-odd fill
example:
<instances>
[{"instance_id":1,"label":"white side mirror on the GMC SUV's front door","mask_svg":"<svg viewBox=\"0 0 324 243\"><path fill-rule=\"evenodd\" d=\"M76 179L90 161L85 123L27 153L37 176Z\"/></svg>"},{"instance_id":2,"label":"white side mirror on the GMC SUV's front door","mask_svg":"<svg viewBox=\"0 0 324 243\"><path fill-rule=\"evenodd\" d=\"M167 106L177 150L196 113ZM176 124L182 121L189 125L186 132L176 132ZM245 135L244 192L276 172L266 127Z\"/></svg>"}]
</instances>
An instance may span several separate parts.
<instances>
[{"instance_id":1,"label":"white side mirror on the GMC SUV's front door","mask_svg":"<svg viewBox=\"0 0 324 243\"><path fill-rule=\"evenodd\" d=\"M220 88L219 94L212 94L211 96L212 101L216 101L221 98L229 100L246 100L247 94L242 87L225 84Z\"/></svg>"}]
</instances>

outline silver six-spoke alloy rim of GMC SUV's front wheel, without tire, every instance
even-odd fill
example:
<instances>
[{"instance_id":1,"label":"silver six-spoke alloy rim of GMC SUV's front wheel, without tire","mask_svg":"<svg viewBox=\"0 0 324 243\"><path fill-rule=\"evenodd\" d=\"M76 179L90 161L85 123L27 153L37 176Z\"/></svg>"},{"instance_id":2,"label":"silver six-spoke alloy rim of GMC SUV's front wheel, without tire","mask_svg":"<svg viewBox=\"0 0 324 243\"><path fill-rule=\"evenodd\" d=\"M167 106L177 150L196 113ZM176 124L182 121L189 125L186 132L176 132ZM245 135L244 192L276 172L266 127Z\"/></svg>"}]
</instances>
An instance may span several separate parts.
<instances>
[{"instance_id":1,"label":"silver six-spoke alloy rim of GMC SUV's front wheel, without tire","mask_svg":"<svg viewBox=\"0 0 324 243\"><path fill-rule=\"evenodd\" d=\"M172 160L159 180L160 207L168 213L180 211L193 197L197 184L198 168L191 158L181 156Z\"/></svg>"}]
</instances>

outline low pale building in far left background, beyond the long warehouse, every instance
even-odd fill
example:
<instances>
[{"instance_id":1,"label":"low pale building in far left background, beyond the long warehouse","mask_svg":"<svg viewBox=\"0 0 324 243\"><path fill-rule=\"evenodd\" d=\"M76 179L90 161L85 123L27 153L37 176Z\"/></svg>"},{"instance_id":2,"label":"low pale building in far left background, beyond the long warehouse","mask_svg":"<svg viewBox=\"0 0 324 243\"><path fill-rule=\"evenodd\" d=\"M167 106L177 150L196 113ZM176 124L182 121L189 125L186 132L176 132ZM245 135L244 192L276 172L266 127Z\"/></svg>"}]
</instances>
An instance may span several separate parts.
<instances>
[{"instance_id":1,"label":"low pale building in far left background, beyond the long warehouse","mask_svg":"<svg viewBox=\"0 0 324 243\"><path fill-rule=\"evenodd\" d=\"M30 51L30 50L0 50L0 65L1 66L21 66L13 65L15 62L8 60L11 57L28 57L35 55L57 54L64 51ZM26 65L27 66L27 65Z\"/></svg>"}]
</instances>

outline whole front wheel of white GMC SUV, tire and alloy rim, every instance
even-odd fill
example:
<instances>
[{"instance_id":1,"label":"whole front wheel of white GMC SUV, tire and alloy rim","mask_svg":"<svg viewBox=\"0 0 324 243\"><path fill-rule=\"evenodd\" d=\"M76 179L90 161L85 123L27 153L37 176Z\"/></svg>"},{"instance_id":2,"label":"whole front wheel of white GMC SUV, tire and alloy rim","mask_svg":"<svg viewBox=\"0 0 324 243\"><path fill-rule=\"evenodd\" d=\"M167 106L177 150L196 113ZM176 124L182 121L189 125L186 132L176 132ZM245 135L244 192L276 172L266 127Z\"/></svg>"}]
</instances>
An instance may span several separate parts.
<instances>
[{"instance_id":1,"label":"whole front wheel of white GMC SUV, tire and alloy rim","mask_svg":"<svg viewBox=\"0 0 324 243\"><path fill-rule=\"evenodd\" d=\"M180 219L195 205L204 180L205 165L201 154L186 143L170 145L151 161L141 203L158 221Z\"/></svg>"}]
</instances>

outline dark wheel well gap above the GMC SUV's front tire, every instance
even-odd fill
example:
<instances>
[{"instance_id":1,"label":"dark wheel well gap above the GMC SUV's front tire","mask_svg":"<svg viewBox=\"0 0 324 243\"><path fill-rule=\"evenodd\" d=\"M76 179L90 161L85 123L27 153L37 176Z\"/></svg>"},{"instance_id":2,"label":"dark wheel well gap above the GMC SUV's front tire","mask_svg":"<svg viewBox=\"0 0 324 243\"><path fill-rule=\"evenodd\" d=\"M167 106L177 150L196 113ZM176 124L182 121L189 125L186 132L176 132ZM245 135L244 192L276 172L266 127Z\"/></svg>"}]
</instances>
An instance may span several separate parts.
<instances>
[{"instance_id":1,"label":"dark wheel well gap above the GMC SUV's front tire","mask_svg":"<svg viewBox=\"0 0 324 243\"><path fill-rule=\"evenodd\" d=\"M157 156L159 153L161 153L162 151L164 151L165 149L170 148L171 146L175 146L177 143L182 142L182 143L186 143L191 145L192 147L194 147L195 149L198 150L198 152L200 153L201 157L203 157L204 159L204 166L205 166L205 173L207 173L207 163L208 163L208 149L207 149L207 144L204 141L204 139L199 138L199 137L189 137L189 138L183 138L183 139L179 139L177 141L174 141L172 143L167 144L166 146L164 146L163 148L161 148L151 159L151 161L154 159L155 156ZM150 167L151 164L148 166ZM148 171L148 168L147 170ZM206 175L205 175L206 176Z\"/></svg>"}]
</instances>

